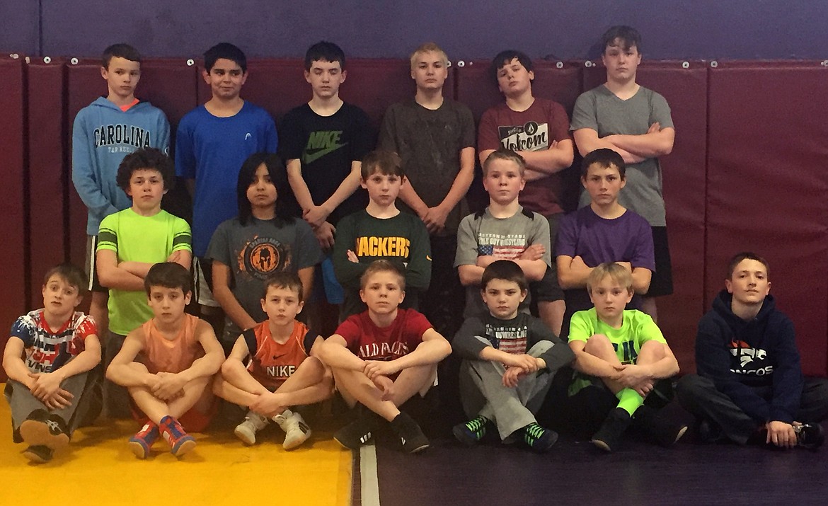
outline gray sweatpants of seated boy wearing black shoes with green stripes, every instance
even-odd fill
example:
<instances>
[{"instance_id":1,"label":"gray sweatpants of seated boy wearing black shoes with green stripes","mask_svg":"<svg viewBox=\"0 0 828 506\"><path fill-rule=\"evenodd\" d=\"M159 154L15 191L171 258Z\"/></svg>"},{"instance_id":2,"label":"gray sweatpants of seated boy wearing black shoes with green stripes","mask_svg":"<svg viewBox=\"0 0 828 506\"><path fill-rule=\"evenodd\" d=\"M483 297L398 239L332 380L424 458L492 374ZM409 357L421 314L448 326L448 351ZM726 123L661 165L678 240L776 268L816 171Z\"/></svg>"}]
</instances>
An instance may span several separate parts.
<instances>
[{"instance_id":1,"label":"gray sweatpants of seated boy wearing black shoes with green stripes","mask_svg":"<svg viewBox=\"0 0 828 506\"><path fill-rule=\"evenodd\" d=\"M488 340L477 337L487 345ZM539 357L555 344L541 341L532 346L530 355ZM534 413L541 407L554 374L547 370L528 374L515 388L503 386L506 368L499 362L464 360L460 365L460 402L466 416L489 418L498 426L503 441L514 431L535 422Z\"/></svg>"}]
</instances>

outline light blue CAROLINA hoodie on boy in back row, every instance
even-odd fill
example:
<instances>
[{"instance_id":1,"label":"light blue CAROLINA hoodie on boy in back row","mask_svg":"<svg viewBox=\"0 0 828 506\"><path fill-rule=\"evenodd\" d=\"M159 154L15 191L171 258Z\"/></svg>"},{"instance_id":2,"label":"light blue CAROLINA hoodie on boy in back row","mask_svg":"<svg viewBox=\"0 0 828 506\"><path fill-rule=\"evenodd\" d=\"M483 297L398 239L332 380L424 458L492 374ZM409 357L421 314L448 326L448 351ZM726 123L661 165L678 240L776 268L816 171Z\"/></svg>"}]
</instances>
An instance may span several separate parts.
<instances>
[{"instance_id":1,"label":"light blue CAROLINA hoodie on boy in back row","mask_svg":"<svg viewBox=\"0 0 828 506\"><path fill-rule=\"evenodd\" d=\"M170 123L161 109L139 102L123 112L106 97L80 109L72 128L72 182L89 208L86 234L98 235L101 219L132 200L115 182L123 157L139 147L170 151Z\"/></svg>"}]
</instances>

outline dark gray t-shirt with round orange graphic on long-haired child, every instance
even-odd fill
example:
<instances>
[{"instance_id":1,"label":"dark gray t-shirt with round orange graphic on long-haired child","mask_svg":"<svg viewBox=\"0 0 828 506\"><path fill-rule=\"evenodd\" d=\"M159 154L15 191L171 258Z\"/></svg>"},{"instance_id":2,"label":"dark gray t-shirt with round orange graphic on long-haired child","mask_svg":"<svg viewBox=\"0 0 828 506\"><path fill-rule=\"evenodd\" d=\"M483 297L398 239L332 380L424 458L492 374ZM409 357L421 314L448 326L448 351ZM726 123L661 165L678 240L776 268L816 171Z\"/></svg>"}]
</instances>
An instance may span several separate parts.
<instances>
[{"instance_id":1,"label":"dark gray t-shirt with round orange graphic on long-haired child","mask_svg":"<svg viewBox=\"0 0 828 506\"><path fill-rule=\"evenodd\" d=\"M230 267L230 289L238 303L253 320L267 318L262 311L264 280L282 271L297 272L320 263L319 242L303 219L255 219L242 225L238 218L228 219L215 229L207 248L207 258ZM224 335L233 339L241 334L229 318Z\"/></svg>"}]
</instances>

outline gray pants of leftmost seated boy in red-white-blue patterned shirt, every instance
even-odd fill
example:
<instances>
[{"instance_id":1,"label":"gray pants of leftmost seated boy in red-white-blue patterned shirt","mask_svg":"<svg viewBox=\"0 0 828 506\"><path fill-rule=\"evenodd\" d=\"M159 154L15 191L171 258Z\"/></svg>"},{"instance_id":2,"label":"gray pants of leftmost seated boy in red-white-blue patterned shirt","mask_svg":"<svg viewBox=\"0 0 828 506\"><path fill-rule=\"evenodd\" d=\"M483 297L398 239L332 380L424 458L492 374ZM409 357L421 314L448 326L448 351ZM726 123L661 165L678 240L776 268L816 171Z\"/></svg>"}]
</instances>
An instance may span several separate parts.
<instances>
[{"instance_id":1,"label":"gray pants of leftmost seated boy in red-white-blue patterned shirt","mask_svg":"<svg viewBox=\"0 0 828 506\"><path fill-rule=\"evenodd\" d=\"M3 393L6 395L8 405L12 407L12 429L17 431L20 424L26 420L26 417L36 409L43 409L50 414L63 418L70 435L81 424L90 422L91 419L98 416L101 405L100 385L95 381L95 375L91 371L66 378L63 383L60 383L60 388L75 397L72 398L72 402L68 407L51 410L40 399L32 395L26 385L9 379Z\"/></svg>"}]
</instances>

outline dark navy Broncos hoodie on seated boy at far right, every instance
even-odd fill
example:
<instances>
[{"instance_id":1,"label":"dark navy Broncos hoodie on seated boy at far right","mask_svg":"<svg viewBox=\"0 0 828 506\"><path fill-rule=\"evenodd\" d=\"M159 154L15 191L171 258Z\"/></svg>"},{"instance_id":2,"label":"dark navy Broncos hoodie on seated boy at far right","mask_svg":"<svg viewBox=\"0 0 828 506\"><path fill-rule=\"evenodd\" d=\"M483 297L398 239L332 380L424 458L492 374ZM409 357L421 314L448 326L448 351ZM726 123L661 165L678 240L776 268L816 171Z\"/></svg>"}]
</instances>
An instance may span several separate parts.
<instances>
[{"instance_id":1,"label":"dark navy Broncos hoodie on seated boy at far right","mask_svg":"<svg viewBox=\"0 0 828 506\"><path fill-rule=\"evenodd\" d=\"M696 369L753 420L793 422L803 378L792 321L771 295L753 320L736 316L731 301L721 291L699 321Z\"/></svg>"}]
</instances>

